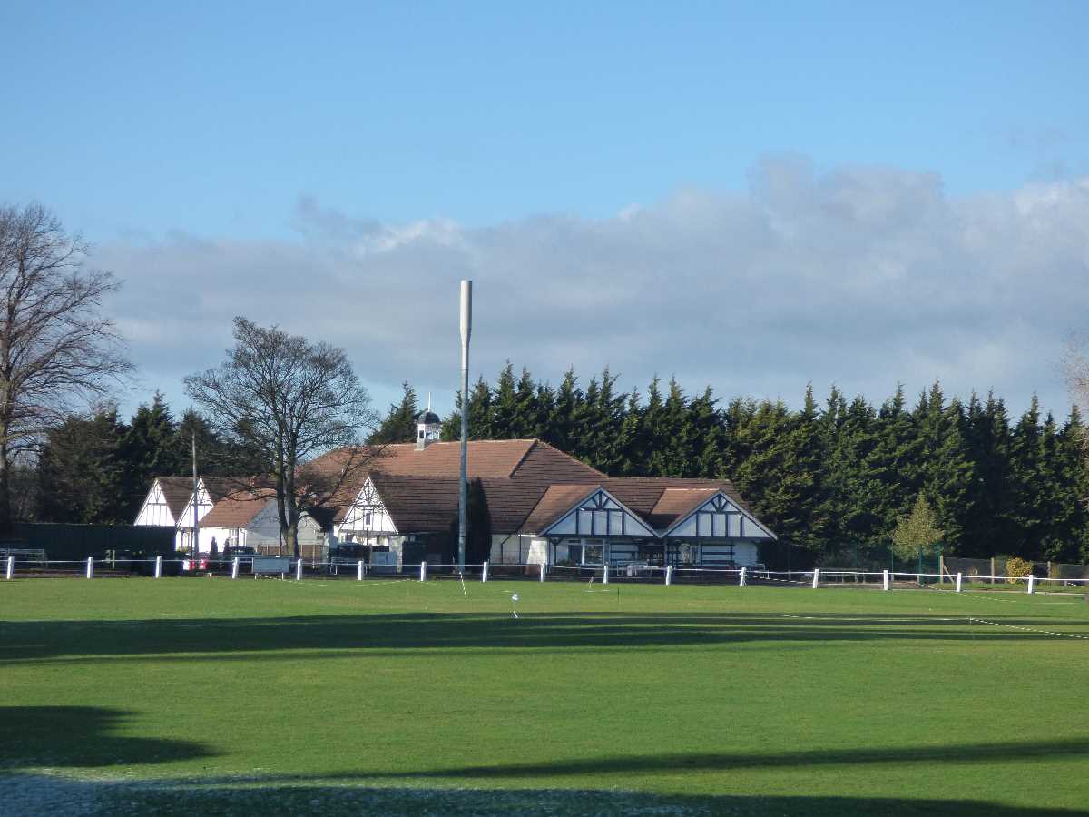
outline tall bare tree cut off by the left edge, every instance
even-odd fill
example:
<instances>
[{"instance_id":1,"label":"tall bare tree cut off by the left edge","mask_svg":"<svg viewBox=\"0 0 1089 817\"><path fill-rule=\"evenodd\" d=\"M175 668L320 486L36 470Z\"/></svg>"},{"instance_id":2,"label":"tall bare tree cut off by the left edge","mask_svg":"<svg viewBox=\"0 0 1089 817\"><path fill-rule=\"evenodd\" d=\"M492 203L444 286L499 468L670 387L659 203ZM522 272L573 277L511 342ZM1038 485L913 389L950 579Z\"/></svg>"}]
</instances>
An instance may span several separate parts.
<instances>
[{"instance_id":1,"label":"tall bare tree cut off by the left edge","mask_svg":"<svg viewBox=\"0 0 1089 817\"><path fill-rule=\"evenodd\" d=\"M86 257L81 236L40 205L0 207L0 532L11 529L20 455L132 368L100 314L120 284Z\"/></svg>"}]
</instances>

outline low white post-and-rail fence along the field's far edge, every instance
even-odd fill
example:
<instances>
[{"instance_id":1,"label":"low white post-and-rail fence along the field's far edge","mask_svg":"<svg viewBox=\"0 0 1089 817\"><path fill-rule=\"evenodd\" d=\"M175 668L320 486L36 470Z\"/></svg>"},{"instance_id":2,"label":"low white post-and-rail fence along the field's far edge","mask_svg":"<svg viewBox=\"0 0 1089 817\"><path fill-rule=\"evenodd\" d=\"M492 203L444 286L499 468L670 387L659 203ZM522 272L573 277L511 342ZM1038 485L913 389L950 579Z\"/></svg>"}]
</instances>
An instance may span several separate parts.
<instances>
[{"instance_id":1,"label":"low white post-and-rail fence along the field's far edge","mask_svg":"<svg viewBox=\"0 0 1089 817\"><path fill-rule=\"evenodd\" d=\"M1005 576L964 572L918 573L901 571L854 571L815 569L810 571L772 571L762 568L673 568L645 563L613 565L546 564L467 564L461 572L455 564L427 562L371 565L364 561L320 561L307 559L244 557L227 560L200 559L95 559L49 560L40 551L13 552L0 563L5 581L45 577L118 578L125 576L203 576L240 580L282 578L325 581L526 581L583 582L587 584L657 585L735 585L794 586L819 588L1015 590L1020 593L1089 592L1089 576L1055 577Z\"/></svg>"}]
</instances>

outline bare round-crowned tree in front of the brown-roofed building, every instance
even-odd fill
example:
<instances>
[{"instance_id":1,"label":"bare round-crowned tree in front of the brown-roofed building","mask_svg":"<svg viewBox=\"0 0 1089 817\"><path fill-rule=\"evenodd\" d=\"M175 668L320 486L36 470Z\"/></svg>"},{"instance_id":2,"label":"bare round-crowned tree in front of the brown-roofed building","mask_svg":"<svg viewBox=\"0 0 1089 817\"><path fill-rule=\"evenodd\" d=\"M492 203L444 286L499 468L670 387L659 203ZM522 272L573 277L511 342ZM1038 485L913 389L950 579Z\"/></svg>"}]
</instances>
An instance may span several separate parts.
<instances>
[{"instance_id":1,"label":"bare round-crowned tree in front of the brown-roofed building","mask_svg":"<svg viewBox=\"0 0 1089 817\"><path fill-rule=\"evenodd\" d=\"M344 498L376 454L359 441L377 416L344 350L242 317L234 341L225 362L185 378L185 389L217 431L259 453L268 473L252 489L276 490L280 533L298 557L299 519Z\"/></svg>"}]
</instances>

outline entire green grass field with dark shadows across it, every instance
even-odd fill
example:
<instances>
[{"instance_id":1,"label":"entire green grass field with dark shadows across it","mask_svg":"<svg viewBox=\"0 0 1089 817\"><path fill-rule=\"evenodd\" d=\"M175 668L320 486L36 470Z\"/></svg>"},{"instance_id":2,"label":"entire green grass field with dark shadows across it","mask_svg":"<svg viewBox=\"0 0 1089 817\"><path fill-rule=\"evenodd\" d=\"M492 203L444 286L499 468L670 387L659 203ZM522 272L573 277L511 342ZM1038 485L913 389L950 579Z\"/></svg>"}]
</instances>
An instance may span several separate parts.
<instances>
[{"instance_id":1,"label":"entire green grass field with dark shadows across it","mask_svg":"<svg viewBox=\"0 0 1089 817\"><path fill-rule=\"evenodd\" d=\"M1089 808L1080 596L466 589L0 583L0 813Z\"/></svg>"}]
</instances>

